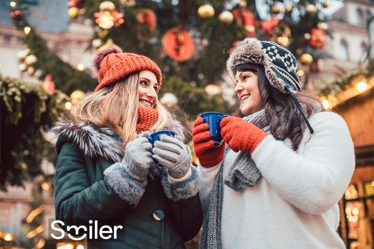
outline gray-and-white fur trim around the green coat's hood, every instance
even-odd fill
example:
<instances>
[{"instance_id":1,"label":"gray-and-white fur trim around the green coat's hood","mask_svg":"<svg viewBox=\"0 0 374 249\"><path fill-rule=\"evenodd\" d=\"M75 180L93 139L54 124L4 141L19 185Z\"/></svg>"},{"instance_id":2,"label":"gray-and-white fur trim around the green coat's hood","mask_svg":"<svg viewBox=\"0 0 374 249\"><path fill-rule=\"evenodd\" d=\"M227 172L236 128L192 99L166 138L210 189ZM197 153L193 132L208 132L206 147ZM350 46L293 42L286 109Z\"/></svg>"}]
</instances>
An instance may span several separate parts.
<instances>
[{"instance_id":1,"label":"gray-and-white fur trim around the green coat's hood","mask_svg":"<svg viewBox=\"0 0 374 249\"><path fill-rule=\"evenodd\" d=\"M179 121L171 120L162 130L172 130L176 135L185 139L184 127ZM56 151L59 154L59 144L71 141L77 145L86 156L91 158L102 157L105 160L121 161L125 148L122 138L109 128L100 128L96 125L78 123L71 120L61 120L51 129L58 137Z\"/></svg>"}]
</instances>

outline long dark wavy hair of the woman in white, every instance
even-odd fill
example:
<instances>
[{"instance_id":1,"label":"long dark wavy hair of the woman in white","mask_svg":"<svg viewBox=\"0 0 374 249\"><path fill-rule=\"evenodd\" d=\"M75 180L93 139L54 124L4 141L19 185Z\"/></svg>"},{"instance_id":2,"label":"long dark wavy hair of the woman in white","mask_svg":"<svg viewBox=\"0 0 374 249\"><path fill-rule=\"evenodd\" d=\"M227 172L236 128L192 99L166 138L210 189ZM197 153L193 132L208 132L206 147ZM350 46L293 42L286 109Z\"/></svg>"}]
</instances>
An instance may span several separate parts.
<instances>
[{"instance_id":1,"label":"long dark wavy hair of the woman in white","mask_svg":"<svg viewBox=\"0 0 374 249\"><path fill-rule=\"evenodd\" d=\"M259 128L269 126L271 134L277 140L284 141L289 138L292 142L292 149L296 151L306 129L306 123L291 95L281 92L270 84L262 65L241 64L236 67L236 70L241 72L252 71L258 76L260 96L265 109L264 117L267 119L267 122ZM295 96L308 119L318 110L325 111L316 93L310 90L302 90L295 93ZM244 117L240 108L232 116Z\"/></svg>"}]
</instances>

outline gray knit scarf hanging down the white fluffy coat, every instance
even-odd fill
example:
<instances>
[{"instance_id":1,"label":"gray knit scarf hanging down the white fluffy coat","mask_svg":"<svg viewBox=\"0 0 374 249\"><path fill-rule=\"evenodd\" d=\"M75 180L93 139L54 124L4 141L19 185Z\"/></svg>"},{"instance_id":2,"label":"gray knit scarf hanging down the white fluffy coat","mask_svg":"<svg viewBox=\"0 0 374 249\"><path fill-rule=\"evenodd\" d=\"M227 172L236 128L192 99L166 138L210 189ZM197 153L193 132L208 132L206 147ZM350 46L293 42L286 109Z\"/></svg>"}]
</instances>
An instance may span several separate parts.
<instances>
[{"instance_id":1,"label":"gray knit scarf hanging down the white fluffy coat","mask_svg":"<svg viewBox=\"0 0 374 249\"><path fill-rule=\"evenodd\" d=\"M265 109L254 114L243 117L243 120L253 125L262 127L267 121ZM264 132L269 132L269 127L262 128ZM243 192L245 187L254 187L261 178L261 173L252 160L251 155L240 152L227 176L223 178L224 160L230 148L227 146L224 150L224 159L220 169L214 178L213 188L210 196L208 211L206 213L205 224L201 235L200 249L221 249L221 215L224 194L224 184L236 192Z\"/></svg>"}]
</instances>

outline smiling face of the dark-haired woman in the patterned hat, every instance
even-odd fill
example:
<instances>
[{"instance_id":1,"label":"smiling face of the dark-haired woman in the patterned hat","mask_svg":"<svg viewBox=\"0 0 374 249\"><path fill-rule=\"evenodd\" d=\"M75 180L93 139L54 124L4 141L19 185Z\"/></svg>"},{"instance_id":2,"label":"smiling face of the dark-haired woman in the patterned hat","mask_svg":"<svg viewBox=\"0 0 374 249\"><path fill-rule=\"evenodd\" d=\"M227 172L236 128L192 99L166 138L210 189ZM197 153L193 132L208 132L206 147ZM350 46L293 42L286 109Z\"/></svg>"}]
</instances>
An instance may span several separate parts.
<instances>
[{"instance_id":1,"label":"smiling face of the dark-haired woman in the patterned hat","mask_svg":"<svg viewBox=\"0 0 374 249\"><path fill-rule=\"evenodd\" d=\"M253 114L263 109L258 75L252 71L237 71L235 76L235 92L241 101L241 110L244 115Z\"/></svg>"}]
</instances>

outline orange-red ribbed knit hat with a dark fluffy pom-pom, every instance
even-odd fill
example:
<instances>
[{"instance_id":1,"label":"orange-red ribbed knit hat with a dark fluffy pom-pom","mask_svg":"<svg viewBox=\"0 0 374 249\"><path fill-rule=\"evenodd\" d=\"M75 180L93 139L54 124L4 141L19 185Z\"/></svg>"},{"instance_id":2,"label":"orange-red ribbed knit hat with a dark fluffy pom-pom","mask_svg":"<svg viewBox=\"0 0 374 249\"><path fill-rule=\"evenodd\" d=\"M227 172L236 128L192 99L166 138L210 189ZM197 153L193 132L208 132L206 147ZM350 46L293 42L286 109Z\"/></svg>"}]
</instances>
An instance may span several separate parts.
<instances>
[{"instance_id":1,"label":"orange-red ribbed knit hat with a dark fluffy pom-pom","mask_svg":"<svg viewBox=\"0 0 374 249\"><path fill-rule=\"evenodd\" d=\"M136 53L122 53L119 48L112 47L99 51L93 65L99 75L99 85L95 92L141 70L149 70L156 75L157 93L162 84L161 70L150 58Z\"/></svg>"}]
</instances>

